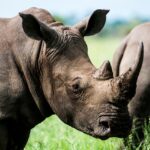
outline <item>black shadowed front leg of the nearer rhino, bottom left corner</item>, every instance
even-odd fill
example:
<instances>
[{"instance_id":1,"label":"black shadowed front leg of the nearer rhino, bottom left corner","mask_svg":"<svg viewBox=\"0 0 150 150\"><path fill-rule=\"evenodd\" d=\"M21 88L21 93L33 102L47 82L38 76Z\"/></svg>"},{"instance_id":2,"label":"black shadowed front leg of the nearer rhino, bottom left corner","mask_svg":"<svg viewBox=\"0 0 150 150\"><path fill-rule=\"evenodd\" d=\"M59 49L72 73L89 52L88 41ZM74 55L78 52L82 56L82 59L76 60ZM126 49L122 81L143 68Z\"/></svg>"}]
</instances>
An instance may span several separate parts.
<instances>
[{"instance_id":1,"label":"black shadowed front leg of the nearer rhino, bottom left corner","mask_svg":"<svg viewBox=\"0 0 150 150\"><path fill-rule=\"evenodd\" d=\"M29 138L26 130L12 121L0 122L0 150L23 150Z\"/></svg>"}]
</instances>

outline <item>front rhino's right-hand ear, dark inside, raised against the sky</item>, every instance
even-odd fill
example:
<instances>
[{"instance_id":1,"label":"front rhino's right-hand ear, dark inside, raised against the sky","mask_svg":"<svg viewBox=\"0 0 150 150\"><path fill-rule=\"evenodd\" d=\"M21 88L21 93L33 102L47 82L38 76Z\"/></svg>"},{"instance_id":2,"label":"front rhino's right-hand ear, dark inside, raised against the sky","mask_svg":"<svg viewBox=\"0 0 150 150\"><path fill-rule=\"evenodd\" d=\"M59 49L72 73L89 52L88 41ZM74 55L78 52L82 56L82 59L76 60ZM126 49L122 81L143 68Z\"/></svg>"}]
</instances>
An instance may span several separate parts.
<instances>
[{"instance_id":1,"label":"front rhino's right-hand ear, dark inside, raised against the sky","mask_svg":"<svg viewBox=\"0 0 150 150\"><path fill-rule=\"evenodd\" d=\"M109 10L95 10L90 17L82 20L74 27L77 28L83 36L96 34L103 28L108 12Z\"/></svg>"}]
</instances>

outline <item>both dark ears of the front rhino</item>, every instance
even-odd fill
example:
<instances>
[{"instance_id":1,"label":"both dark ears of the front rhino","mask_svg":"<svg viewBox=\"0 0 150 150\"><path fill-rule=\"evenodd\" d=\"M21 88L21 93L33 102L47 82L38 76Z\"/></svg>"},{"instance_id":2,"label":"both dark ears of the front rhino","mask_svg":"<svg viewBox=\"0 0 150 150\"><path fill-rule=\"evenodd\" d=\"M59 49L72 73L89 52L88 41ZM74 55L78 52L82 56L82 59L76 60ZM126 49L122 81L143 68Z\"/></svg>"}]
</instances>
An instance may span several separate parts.
<instances>
[{"instance_id":1,"label":"both dark ears of the front rhino","mask_svg":"<svg viewBox=\"0 0 150 150\"><path fill-rule=\"evenodd\" d=\"M78 29L82 36L94 35L103 28L108 12L109 10L95 10L90 17L80 21L73 28ZM32 14L19 13L19 15L22 18L23 30L29 37L48 41L58 36L54 29L40 22Z\"/></svg>"}]
</instances>

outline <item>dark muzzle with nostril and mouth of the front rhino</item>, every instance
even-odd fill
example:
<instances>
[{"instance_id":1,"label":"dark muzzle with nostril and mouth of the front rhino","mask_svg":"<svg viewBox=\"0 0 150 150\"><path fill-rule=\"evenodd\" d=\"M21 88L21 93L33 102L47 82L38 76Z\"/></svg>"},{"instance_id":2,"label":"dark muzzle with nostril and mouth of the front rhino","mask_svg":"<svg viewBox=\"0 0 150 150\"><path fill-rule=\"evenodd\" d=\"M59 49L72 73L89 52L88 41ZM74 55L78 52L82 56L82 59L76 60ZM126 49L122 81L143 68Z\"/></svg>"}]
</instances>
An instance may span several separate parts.
<instances>
[{"instance_id":1,"label":"dark muzzle with nostril and mouth of the front rhino","mask_svg":"<svg viewBox=\"0 0 150 150\"><path fill-rule=\"evenodd\" d=\"M95 125L89 125L85 133L95 138L106 140L109 137L125 138L129 135L132 120L128 114L102 113Z\"/></svg>"}]
</instances>

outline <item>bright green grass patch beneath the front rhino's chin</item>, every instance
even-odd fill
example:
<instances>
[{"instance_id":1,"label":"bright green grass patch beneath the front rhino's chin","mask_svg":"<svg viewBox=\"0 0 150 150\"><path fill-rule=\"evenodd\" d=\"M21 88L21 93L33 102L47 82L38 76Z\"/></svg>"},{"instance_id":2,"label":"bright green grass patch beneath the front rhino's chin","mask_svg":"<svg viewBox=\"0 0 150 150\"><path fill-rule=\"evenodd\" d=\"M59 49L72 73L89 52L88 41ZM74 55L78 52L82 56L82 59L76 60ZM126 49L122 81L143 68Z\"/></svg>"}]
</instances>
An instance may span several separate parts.
<instances>
[{"instance_id":1,"label":"bright green grass patch beneath the front rhino's chin","mask_svg":"<svg viewBox=\"0 0 150 150\"><path fill-rule=\"evenodd\" d=\"M55 115L35 127L26 150L120 150L122 141L92 138L64 123Z\"/></svg>"}]
</instances>

